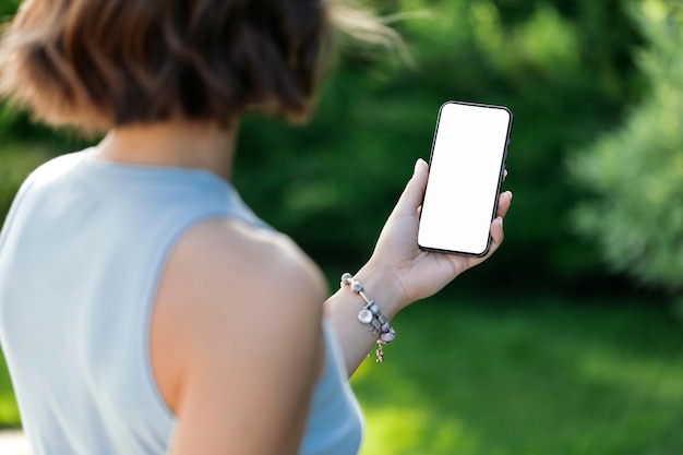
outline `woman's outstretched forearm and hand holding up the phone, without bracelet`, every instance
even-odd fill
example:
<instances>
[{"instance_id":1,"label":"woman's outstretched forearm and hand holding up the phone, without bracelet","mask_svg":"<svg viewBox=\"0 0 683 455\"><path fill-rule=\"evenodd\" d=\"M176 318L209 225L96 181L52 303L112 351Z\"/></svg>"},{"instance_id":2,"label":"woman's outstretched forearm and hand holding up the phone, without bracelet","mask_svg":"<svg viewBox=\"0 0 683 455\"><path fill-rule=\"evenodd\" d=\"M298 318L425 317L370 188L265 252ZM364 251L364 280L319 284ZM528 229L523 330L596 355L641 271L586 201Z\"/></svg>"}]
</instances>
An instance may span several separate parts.
<instances>
[{"instance_id":1,"label":"woman's outstretched forearm and hand holding up the phone, without bracelet","mask_svg":"<svg viewBox=\"0 0 683 455\"><path fill-rule=\"evenodd\" d=\"M503 217L512 193L499 196L496 218L491 223L493 239L483 258L440 254L418 248L419 207L427 187L428 165L419 159L412 178L390 215L370 261L355 275L366 294L381 307L390 321L408 304L436 294L457 275L486 261L503 241ZM360 296L339 289L325 302L342 345L349 376L372 349L376 335L358 321L364 306Z\"/></svg>"}]
</instances>

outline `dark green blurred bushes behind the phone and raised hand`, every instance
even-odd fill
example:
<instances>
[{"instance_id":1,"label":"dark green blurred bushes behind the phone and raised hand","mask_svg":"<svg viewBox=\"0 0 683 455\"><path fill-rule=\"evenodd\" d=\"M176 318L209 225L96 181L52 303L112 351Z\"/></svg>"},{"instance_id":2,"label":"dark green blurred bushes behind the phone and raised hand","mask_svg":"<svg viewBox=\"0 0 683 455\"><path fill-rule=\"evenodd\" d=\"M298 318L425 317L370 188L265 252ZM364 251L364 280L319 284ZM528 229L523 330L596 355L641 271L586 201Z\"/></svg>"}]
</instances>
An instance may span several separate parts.
<instances>
[{"instance_id":1,"label":"dark green blurred bushes behind the phone and raised hand","mask_svg":"<svg viewBox=\"0 0 683 455\"><path fill-rule=\"evenodd\" d=\"M506 244L463 282L577 286L604 278L589 242L571 229L568 208L584 190L570 181L564 163L619 124L639 98L631 56L642 38L626 2L371 1L384 14L415 13L395 23L415 67L397 52L347 47L308 125L244 119L236 185L315 260L351 270L371 253L415 159L429 156L441 104L506 105L515 116ZM0 12L15 4L0 0ZM3 144L46 139L13 116L0 118L2 166ZM55 141L63 144L64 136Z\"/></svg>"}]
</instances>

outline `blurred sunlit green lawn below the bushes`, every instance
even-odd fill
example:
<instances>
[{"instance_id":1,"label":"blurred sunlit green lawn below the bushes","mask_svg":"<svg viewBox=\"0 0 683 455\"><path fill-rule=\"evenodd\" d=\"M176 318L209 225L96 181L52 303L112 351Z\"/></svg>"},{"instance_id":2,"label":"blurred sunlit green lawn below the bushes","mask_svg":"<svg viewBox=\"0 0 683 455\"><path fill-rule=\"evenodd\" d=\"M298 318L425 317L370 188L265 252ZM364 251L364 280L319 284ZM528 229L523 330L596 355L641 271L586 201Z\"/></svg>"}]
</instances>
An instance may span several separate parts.
<instances>
[{"instance_id":1,"label":"blurred sunlit green lawn below the bushes","mask_svg":"<svg viewBox=\"0 0 683 455\"><path fill-rule=\"evenodd\" d=\"M394 323L352 380L362 455L683 453L683 325L661 306L443 296ZM2 370L0 426L15 409Z\"/></svg>"}]
</instances>

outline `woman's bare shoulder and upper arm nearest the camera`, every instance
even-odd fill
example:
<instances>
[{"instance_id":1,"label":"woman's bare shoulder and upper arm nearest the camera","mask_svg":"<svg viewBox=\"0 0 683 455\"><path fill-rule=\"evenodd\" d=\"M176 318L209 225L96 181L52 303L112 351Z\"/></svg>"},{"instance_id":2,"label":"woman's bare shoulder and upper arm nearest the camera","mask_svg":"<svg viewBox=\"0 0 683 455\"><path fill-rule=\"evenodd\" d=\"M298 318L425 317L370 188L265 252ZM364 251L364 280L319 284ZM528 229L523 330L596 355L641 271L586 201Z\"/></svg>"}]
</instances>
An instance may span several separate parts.
<instances>
[{"instance_id":1,"label":"woman's bare shoulder and upper arm nearest the camera","mask_svg":"<svg viewBox=\"0 0 683 455\"><path fill-rule=\"evenodd\" d=\"M215 219L172 251L152 367L177 416L171 455L290 455L322 367L325 287L285 236Z\"/></svg>"}]
</instances>

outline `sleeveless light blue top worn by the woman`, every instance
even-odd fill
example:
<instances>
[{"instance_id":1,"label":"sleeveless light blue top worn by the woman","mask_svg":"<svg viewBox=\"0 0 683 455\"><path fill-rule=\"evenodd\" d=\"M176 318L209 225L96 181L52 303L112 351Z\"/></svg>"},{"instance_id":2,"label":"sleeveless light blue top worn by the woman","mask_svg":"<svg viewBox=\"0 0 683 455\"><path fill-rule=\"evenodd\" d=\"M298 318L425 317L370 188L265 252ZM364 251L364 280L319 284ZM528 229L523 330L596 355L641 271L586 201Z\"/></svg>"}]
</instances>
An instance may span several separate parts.
<instances>
[{"instance_id":1,"label":"sleeveless light blue top worn by the woman","mask_svg":"<svg viewBox=\"0 0 683 455\"><path fill-rule=\"evenodd\" d=\"M152 374L149 315L175 242L215 217L267 228L229 183L201 170L86 151L26 180L0 236L0 344L34 455L166 453L175 417ZM358 404L329 331L324 322L325 368L301 455L360 445Z\"/></svg>"}]
</instances>

